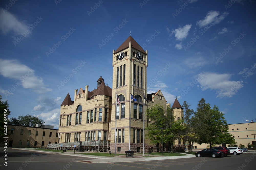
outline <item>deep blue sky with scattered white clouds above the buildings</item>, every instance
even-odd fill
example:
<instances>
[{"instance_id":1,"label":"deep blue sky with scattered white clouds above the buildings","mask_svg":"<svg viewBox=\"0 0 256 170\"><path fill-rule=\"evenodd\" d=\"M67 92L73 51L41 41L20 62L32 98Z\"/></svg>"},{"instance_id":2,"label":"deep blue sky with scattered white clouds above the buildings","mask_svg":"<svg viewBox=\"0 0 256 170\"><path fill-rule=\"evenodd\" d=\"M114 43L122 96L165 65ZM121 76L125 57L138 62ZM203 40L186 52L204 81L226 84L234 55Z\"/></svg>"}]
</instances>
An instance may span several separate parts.
<instances>
[{"instance_id":1,"label":"deep blue sky with scattered white clouds above the buildings","mask_svg":"<svg viewBox=\"0 0 256 170\"><path fill-rule=\"evenodd\" d=\"M196 109L201 98L228 124L255 122L254 1L1 1L0 95L11 115L58 128L60 104L103 77L129 36L148 50L148 93ZM254 104L253 104L254 103Z\"/></svg>"}]
</instances>

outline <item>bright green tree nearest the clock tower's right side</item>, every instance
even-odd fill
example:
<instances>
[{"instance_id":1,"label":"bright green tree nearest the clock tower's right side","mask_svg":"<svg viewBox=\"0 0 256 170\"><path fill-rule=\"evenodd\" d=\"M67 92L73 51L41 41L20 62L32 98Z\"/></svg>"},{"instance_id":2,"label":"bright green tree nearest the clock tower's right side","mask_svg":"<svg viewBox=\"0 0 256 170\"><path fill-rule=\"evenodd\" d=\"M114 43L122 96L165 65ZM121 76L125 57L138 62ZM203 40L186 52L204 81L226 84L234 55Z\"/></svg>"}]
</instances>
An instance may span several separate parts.
<instances>
[{"instance_id":1,"label":"bright green tree nearest the clock tower's right side","mask_svg":"<svg viewBox=\"0 0 256 170\"><path fill-rule=\"evenodd\" d=\"M166 143L166 150L173 152L173 142L175 139L182 137L185 134L186 126L183 126L183 120L174 121L173 111L167 107L165 110L163 106L156 104L152 108L147 109L147 117L152 119L153 123L146 127L148 131L147 136L154 144ZM168 146L170 143L170 146Z\"/></svg>"}]
</instances>

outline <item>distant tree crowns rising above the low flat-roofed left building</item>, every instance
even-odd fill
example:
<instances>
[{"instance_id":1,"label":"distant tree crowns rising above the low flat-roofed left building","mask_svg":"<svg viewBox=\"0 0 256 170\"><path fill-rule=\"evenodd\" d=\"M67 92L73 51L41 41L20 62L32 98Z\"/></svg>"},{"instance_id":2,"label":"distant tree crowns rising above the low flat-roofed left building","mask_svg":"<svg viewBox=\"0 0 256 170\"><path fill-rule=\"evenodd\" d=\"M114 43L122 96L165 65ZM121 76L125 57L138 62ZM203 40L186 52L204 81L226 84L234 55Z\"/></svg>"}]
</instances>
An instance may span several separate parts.
<instances>
[{"instance_id":1,"label":"distant tree crowns rising above the low flat-roofed left building","mask_svg":"<svg viewBox=\"0 0 256 170\"><path fill-rule=\"evenodd\" d=\"M44 124L45 122L42 119L39 119L38 117L32 116L32 115L26 115L26 116L18 116L18 119L15 117L12 117L10 119L10 124L16 125L16 126L32 126L35 127L36 124Z\"/></svg>"}]
</instances>

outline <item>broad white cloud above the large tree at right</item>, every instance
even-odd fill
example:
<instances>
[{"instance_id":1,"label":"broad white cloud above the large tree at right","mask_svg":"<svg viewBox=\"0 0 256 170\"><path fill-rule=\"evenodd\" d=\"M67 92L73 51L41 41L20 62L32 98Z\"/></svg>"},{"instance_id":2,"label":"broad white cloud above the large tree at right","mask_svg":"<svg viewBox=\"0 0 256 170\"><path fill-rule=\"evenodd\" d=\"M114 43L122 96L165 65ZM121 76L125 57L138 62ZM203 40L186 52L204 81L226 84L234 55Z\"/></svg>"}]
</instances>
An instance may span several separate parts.
<instances>
[{"instance_id":1,"label":"broad white cloud above the large tree at right","mask_svg":"<svg viewBox=\"0 0 256 170\"><path fill-rule=\"evenodd\" d=\"M217 97L226 98L236 95L238 90L243 87L241 81L231 81L231 74L205 72L198 75L200 88L204 91L207 89L216 90Z\"/></svg>"}]
</instances>

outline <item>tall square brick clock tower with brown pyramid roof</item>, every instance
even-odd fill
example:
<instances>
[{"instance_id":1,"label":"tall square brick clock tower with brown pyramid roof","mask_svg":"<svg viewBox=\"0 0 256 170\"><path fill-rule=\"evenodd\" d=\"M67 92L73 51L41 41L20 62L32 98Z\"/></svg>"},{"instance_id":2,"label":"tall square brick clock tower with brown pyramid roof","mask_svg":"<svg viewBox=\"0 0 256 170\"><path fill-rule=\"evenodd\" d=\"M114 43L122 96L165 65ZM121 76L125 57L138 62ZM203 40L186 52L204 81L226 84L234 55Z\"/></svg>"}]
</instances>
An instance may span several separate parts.
<instances>
[{"instance_id":1,"label":"tall square brick clock tower with brown pyramid roof","mask_svg":"<svg viewBox=\"0 0 256 170\"><path fill-rule=\"evenodd\" d=\"M115 124L116 151L128 150L129 143L133 151L143 149L143 113L147 109L143 98L144 94L147 95L147 61L147 50L145 51L132 36L113 50L112 115L109 134L112 151L115 148ZM131 95L135 99L131 100ZM117 96L120 104L116 102Z\"/></svg>"}]
</instances>

